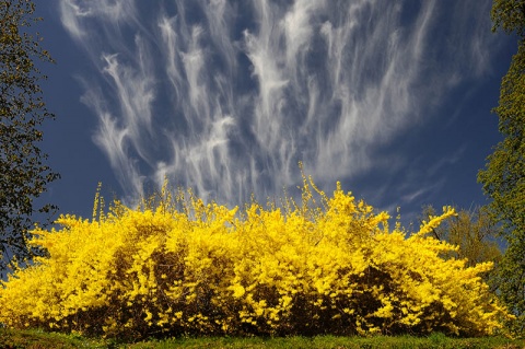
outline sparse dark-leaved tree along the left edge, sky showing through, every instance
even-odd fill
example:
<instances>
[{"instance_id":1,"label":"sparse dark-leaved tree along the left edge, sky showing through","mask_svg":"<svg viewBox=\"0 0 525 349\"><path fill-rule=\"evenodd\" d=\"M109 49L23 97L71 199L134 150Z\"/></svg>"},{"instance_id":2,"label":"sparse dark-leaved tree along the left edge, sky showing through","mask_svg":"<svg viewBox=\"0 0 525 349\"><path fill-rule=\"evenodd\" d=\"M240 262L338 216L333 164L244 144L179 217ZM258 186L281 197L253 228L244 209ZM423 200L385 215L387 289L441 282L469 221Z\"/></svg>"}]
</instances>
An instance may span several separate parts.
<instances>
[{"instance_id":1,"label":"sparse dark-leaved tree along the left edge, sky showing through","mask_svg":"<svg viewBox=\"0 0 525 349\"><path fill-rule=\"evenodd\" d=\"M35 60L52 62L42 49L38 33L32 34L35 4L28 0L0 1L0 272L37 251L28 247L28 230L50 218L56 207L34 203L48 183L59 178L44 164L38 129L52 119L43 101L39 81L46 79Z\"/></svg>"}]
</instances>

